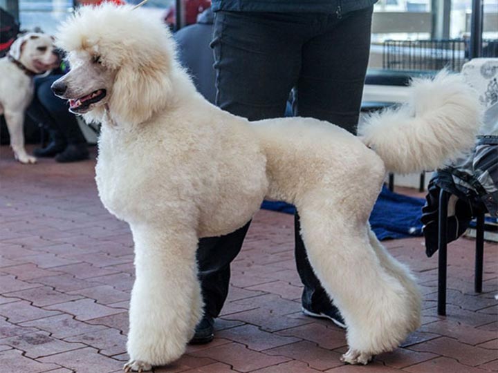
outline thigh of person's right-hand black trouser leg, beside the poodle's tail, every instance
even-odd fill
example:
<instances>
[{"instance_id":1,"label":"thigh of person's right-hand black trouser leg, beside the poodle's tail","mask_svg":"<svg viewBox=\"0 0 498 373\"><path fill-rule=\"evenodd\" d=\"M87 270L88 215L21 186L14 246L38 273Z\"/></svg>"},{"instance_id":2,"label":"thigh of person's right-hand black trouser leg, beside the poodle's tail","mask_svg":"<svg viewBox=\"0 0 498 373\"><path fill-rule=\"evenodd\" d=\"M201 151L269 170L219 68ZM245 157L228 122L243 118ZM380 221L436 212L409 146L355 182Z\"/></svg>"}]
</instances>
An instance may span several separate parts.
<instances>
[{"instance_id":1,"label":"thigh of person's right-hand black trouser leg, beside the poodle's tail","mask_svg":"<svg viewBox=\"0 0 498 373\"><path fill-rule=\"evenodd\" d=\"M336 124L356 134L370 52L373 8L337 19L303 46L297 115Z\"/></svg>"}]
</instances>

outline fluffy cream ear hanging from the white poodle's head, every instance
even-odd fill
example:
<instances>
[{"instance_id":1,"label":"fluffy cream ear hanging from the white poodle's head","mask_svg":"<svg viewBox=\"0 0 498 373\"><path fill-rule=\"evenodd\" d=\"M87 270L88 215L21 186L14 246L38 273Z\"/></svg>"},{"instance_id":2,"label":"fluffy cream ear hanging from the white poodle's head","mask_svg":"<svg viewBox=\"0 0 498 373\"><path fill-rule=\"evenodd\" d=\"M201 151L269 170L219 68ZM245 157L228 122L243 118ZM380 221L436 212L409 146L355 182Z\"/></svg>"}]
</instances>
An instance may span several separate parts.
<instances>
[{"instance_id":1,"label":"fluffy cream ear hanging from the white poodle's head","mask_svg":"<svg viewBox=\"0 0 498 373\"><path fill-rule=\"evenodd\" d=\"M138 124L167 106L172 97L171 69L160 66L122 66L116 74L109 107L117 118Z\"/></svg>"}]
</instances>

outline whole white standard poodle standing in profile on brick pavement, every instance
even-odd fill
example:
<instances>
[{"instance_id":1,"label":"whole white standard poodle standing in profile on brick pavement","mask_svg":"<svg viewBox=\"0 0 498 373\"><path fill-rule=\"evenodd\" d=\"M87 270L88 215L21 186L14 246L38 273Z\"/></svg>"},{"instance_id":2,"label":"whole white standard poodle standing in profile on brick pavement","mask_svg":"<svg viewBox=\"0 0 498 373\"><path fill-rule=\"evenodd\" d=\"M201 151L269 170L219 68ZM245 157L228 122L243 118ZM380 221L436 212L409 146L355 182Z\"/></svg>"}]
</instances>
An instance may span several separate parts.
<instances>
[{"instance_id":1,"label":"whole white standard poodle standing in profile on brick pavement","mask_svg":"<svg viewBox=\"0 0 498 373\"><path fill-rule=\"evenodd\" d=\"M202 314L199 238L241 227L265 197L299 211L311 264L348 325L344 361L365 364L418 327L414 278L368 218L387 170L434 169L472 146L480 108L459 76L417 82L409 104L355 137L311 118L248 122L216 108L178 65L167 28L131 6L82 8L58 44L72 70L53 89L102 122L100 198L133 232L125 370L183 354Z\"/></svg>"}]
</instances>

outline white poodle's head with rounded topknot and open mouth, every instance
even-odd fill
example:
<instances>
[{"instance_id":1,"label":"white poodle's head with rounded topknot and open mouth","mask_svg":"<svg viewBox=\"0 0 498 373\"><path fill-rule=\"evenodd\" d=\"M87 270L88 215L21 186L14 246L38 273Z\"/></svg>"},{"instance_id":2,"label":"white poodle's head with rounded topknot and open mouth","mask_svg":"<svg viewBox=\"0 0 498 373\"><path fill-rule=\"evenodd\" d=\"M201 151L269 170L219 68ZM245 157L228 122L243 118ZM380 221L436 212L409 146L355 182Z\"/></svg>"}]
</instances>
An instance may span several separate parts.
<instances>
[{"instance_id":1,"label":"white poodle's head with rounded topknot and open mouth","mask_svg":"<svg viewBox=\"0 0 498 373\"><path fill-rule=\"evenodd\" d=\"M100 121L109 108L119 121L145 122L171 97L174 42L147 10L84 6L59 28L57 46L71 70L53 91L86 119Z\"/></svg>"}]
</instances>

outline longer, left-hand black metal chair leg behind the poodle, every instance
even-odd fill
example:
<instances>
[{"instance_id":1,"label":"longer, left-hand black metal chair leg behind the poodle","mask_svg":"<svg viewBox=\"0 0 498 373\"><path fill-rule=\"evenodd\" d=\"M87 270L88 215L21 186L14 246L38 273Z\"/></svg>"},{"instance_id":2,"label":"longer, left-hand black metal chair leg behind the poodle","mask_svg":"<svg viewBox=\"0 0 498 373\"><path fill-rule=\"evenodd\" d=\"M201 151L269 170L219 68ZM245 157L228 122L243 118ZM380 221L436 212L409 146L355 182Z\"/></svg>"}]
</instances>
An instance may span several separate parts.
<instances>
[{"instance_id":1,"label":"longer, left-hand black metal chair leg behind the poodle","mask_svg":"<svg viewBox=\"0 0 498 373\"><path fill-rule=\"evenodd\" d=\"M448 200L450 193L441 189L439 193L439 231L438 231L438 314L441 316L446 315L446 265L447 265L447 252L446 252L446 226L448 219Z\"/></svg>"}]
</instances>

